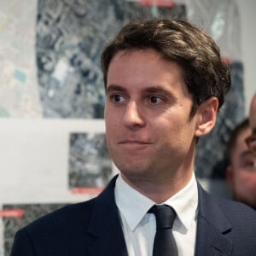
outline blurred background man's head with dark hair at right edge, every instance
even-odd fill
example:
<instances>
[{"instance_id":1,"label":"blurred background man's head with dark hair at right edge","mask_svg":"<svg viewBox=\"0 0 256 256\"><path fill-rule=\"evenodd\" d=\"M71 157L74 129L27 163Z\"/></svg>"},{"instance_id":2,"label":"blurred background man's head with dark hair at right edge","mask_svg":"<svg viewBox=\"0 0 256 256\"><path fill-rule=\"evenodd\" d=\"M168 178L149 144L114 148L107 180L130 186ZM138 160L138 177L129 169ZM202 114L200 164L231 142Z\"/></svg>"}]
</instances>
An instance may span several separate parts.
<instances>
[{"instance_id":1,"label":"blurred background man's head with dark hair at right edge","mask_svg":"<svg viewBox=\"0 0 256 256\"><path fill-rule=\"evenodd\" d=\"M249 119L244 119L230 133L226 177L233 199L256 210L256 154L247 147L247 138L251 135Z\"/></svg>"}]
</instances>

